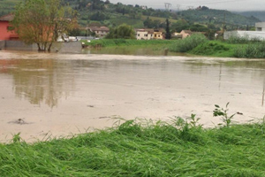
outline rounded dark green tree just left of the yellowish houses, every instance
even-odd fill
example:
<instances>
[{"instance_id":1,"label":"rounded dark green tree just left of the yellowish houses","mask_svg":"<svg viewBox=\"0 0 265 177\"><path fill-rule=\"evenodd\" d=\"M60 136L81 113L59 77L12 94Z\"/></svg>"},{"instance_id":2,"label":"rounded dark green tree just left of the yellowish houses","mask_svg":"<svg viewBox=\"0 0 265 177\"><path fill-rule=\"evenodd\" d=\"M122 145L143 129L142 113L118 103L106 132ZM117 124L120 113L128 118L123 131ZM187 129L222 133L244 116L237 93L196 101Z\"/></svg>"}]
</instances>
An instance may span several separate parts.
<instances>
[{"instance_id":1,"label":"rounded dark green tree just left of the yellowish houses","mask_svg":"<svg viewBox=\"0 0 265 177\"><path fill-rule=\"evenodd\" d=\"M106 39L135 39L133 27L128 25L120 25L110 29L110 33L106 35Z\"/></svg>"}]
</instances>

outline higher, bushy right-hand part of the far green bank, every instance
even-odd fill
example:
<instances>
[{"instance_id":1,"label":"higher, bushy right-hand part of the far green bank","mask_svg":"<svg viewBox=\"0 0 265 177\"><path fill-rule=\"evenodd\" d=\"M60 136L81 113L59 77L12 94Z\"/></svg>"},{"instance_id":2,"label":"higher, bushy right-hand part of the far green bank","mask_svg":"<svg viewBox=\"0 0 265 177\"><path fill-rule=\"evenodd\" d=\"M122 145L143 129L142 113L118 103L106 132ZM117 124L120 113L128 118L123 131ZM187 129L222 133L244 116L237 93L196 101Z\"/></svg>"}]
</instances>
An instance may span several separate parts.
<instances>
[{"instance_id":1,"label":"higher, bushy right-hand part of the far green bank","mask_svg":"<svg viewBox=\"0 0 265 177\"><path fill-rule=\"evenodd\" d=\"M170 45L169 49L208 57L265 58L265 42L247 37L231 37L227 41L209 41L204 35L192 35Z\"/></svg>"}]
</instances>

